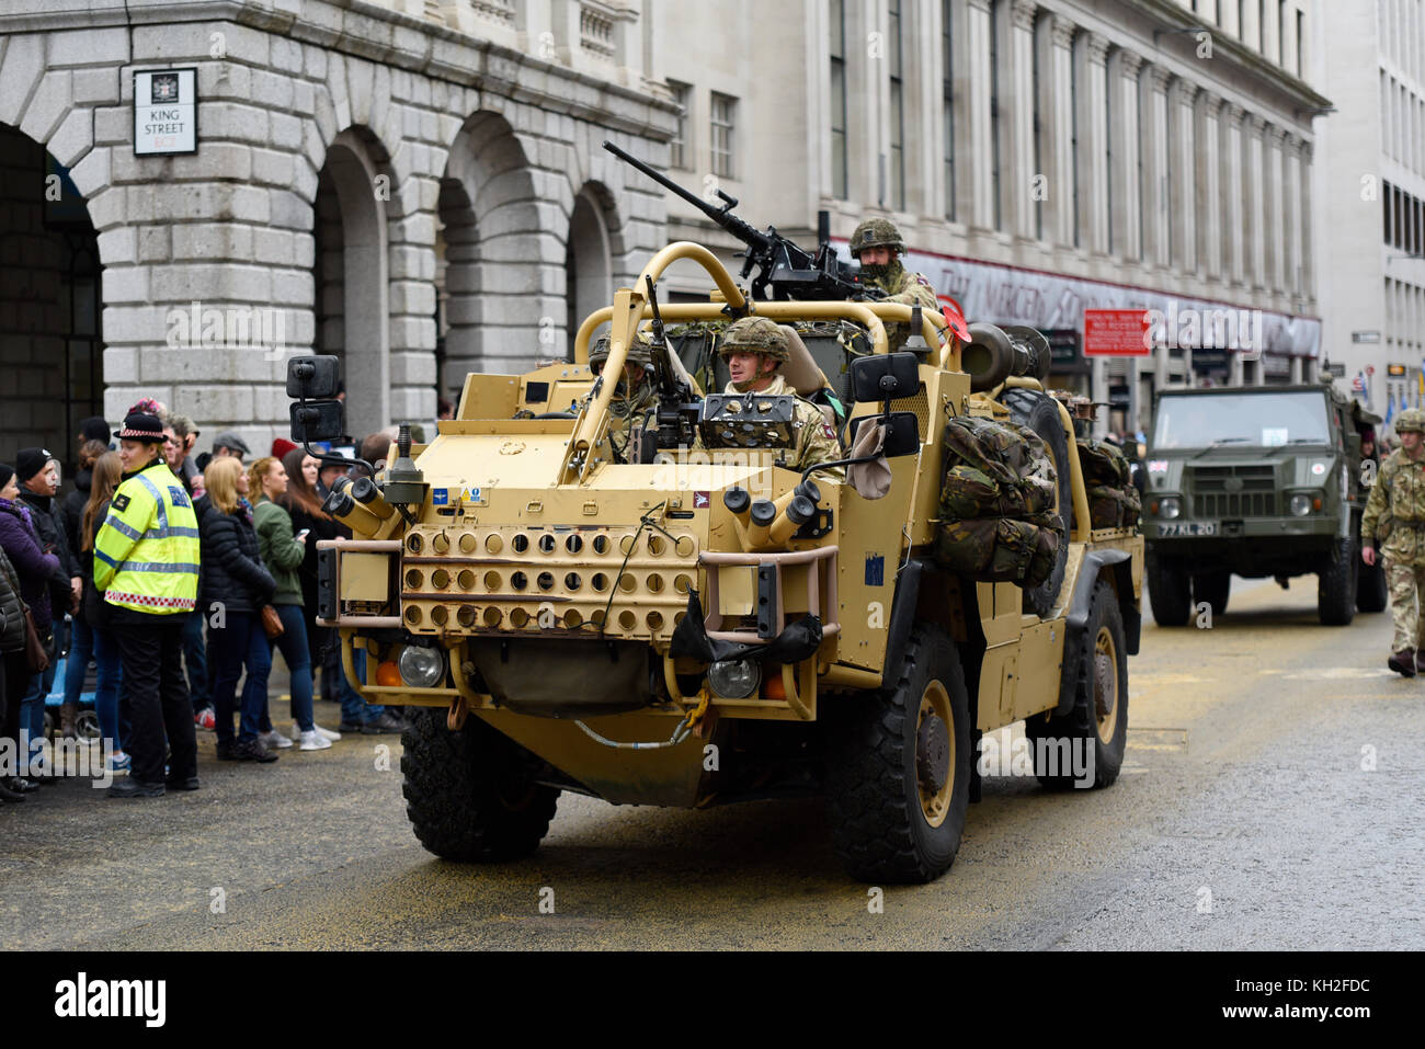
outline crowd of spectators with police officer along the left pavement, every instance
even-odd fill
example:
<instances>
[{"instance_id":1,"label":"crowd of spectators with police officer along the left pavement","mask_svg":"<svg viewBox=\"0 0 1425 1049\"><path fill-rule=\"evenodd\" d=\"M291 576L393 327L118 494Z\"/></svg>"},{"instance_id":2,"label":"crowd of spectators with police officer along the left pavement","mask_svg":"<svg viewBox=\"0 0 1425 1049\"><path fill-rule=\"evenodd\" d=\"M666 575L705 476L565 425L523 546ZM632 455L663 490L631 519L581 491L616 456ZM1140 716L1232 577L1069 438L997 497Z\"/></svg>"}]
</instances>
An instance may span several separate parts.
<instances>
[{"instance_id":1,"label":"crowd of spectators with police officer along the left pavement","mask_svg":"<svg viewBox=\"0 0 1425 1049\"><path fill-rule=\"evenodd\" d=\"M77 738L90 680L90 744L128 772L113 797L198 790L200 733L212 733L221 761L271 764L278 750L405 727L398 710L358 696L335 631L316 623L316 544L351 536L322 505L348 467L281 438L255 459L237 433L202 453L200 438L192 419L145 398L117 430L101 418L80 425L67 492L48 449L0 463L0 747L13 755L0 801L57 778L46 698L63 691L53 730ZM390 442L370 435L361 459L379 463ZM275 653L291 678L292 735L272 723ZM316 724L318 697L341 704L335 730Z\"/></svg>"}]
</instances>

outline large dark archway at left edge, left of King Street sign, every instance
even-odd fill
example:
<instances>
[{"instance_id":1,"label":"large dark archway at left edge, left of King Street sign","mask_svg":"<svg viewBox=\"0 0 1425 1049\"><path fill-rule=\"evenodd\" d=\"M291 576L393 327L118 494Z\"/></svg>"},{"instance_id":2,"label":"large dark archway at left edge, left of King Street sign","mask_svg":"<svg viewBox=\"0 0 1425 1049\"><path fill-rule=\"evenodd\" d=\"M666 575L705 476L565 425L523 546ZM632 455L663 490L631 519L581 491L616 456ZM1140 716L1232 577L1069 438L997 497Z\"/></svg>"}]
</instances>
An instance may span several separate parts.
<instances>
[{"instance_id":1,"label":"large dark archway at left edge, left of King Street sign","mask_svg":"<svg viewBox=\"0 0 1425 1049\"><path fill-rule=\"evenodd\" d=\"M0 458L48 448L67 469L83 419L104 415L98 238L68 170L0 124Z\"/></svg>"}]
</instances>

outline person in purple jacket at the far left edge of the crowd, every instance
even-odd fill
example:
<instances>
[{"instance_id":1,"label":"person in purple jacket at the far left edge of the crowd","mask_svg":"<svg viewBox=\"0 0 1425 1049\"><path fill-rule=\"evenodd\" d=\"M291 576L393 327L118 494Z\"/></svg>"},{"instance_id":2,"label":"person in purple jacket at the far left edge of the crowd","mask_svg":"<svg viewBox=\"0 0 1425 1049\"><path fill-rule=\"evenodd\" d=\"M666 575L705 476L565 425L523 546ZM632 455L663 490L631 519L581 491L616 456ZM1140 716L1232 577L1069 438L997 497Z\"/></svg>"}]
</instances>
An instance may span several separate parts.
<instances>
[{"instance_id":1,"label":"person in purple jacket at the far left edge of the crowd","mask_svg":"<svg viewBox=\"0 0 1425 1049\"><path fill-rule=\"evenodd\" d=\"M50 580L60 566L60 559L47 553L40 542L40 534L34 527L34 513L20 499L19 475L13 467L0 469L0 549L4 550L14 567L20 586L20 597L28 606L34 620L34 629L46 647L51 641L53 616L50 613ZM63 616L63 610L60 613ZM34 677L28 663L23 658L14 673L6 674L6 718L4 737L13 740L19 768L9 770L7 785L11 790L31 790L38 785L34 755L40 748L44 730L44 703L40 701L26 707L27 698L34 693ZM34 714L38 713L40 733L34 730ZM27 745L24 744L28 741Z\"/></svg>"}]
</instances>

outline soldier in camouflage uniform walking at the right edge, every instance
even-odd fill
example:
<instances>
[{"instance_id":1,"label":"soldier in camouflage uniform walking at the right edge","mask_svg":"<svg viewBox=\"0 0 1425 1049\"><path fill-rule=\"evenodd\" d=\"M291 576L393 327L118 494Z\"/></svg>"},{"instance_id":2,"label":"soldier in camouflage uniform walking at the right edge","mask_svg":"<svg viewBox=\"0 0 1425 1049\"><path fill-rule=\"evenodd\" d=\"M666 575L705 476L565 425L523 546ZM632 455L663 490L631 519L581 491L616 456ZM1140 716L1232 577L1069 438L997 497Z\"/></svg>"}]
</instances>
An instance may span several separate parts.
<instances>
[{"instance_id":1,"label":"soldier in camouflage uniform walking at the right edge","mask_svg":"<svg viewBox=\"0 0 1425 1049\"><path fill-rule=\"evenodd\" d=\"M1425 412L1401 412L1395 433L1401 446L1381 463L1361 519L1361 560L1375 564L1377 556L1385 559L1395 619L1385 666L1415 677L1416 670L1425 671L1425 617L1418 607L1425 599Z\"/></svg>"}]
</instances>

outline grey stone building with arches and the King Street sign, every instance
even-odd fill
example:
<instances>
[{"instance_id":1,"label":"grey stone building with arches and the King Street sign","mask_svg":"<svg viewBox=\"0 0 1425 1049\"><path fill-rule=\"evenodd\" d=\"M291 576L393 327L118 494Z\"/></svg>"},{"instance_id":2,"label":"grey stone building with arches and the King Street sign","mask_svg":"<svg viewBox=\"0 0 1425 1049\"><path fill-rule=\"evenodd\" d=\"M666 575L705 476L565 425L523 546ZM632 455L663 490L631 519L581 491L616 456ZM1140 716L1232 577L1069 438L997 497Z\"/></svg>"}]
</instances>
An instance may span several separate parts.
<instances>
[{"instance_id":1,"label":"grey stone building with arches and the King Street sign","mask_svg":"<svg viewBox=\"0 0 1425 1049\"><path fill-rule=\"evenodd\" d=\"M665 155L640 31L594 0L6 4L0 458L73 456L140 396L265 448L312 348L343 356L356 436L561 356L570 292L663 244L661 194L598 148ZM197 153L135 155L155 68L197 70Z\"/></svg>"}]
</instances>

